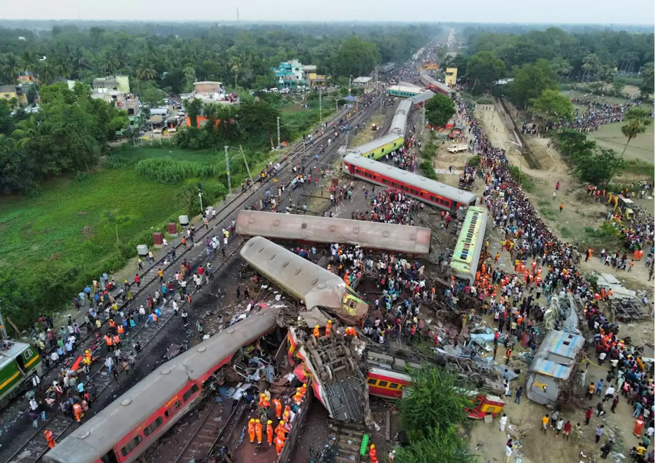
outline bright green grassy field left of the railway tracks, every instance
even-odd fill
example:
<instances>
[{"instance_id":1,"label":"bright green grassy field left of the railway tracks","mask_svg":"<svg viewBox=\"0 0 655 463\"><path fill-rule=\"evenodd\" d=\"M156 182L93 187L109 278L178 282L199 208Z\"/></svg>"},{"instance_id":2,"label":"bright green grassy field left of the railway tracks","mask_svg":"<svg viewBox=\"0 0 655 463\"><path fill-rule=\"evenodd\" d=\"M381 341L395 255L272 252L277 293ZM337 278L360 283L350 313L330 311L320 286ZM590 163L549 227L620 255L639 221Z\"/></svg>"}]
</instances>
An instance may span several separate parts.
<instances>
[{"instance_id":1,"label":"bright green grassy field left of the railway tracks","mask_svg":"<svg viewBox=\"0 0 655 463\"><path fill-rule=\"evenodd\" d=\"M124 156L209 162L214 155L146 147ZM164 185L138 176L131 167L100 169L52 179L37 196L5 196L0 201L0 273L33 291L41 305L35 311L52 309L55 301L69 299L101 272L121 270L136 255L137 244L151 243L153 232L177 222L185 211L178 192L196 181ZM218 181L202 183L211 187ZM25 312L31 310L12 312L13 321L24 325L33 320L35 313Z\"/></svg>"}]
</instances>

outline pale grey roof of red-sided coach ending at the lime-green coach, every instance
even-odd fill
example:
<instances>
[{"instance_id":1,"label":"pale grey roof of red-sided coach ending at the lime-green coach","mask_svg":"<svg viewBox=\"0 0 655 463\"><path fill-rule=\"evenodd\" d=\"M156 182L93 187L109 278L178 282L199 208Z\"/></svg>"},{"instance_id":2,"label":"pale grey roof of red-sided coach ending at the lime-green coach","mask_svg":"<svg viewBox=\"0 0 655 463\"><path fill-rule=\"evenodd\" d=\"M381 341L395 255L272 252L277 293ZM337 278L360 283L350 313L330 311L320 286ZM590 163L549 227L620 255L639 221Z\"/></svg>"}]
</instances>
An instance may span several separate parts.
<instances>
[{"instance_id":1,"label":"pale grey roof of red-sided coach ending at the lime-green coach","mask_svg":"<svg viewBox=\"0 0 655 463\"><path fill-rule=\"evenodd\" d=\"M344 162L352 164L353 166L360 167L367 170L373 170L378 172L383 176L389 177L396 181L403 183L409 183L415 185L417 188L420 188L424 191L429 191L430 193L436 193L439 196L446 196L462 204L470 204L475 198L474 193L469 193L468 191L460 190L440 181L432 180L427 177L419 176L419 174L414 174L407 170L399 169L389 164L384 164L383 162L378 162L371 158L365 158L354 153L350 153L343 158Z\"/></svg>"}]
</instances>

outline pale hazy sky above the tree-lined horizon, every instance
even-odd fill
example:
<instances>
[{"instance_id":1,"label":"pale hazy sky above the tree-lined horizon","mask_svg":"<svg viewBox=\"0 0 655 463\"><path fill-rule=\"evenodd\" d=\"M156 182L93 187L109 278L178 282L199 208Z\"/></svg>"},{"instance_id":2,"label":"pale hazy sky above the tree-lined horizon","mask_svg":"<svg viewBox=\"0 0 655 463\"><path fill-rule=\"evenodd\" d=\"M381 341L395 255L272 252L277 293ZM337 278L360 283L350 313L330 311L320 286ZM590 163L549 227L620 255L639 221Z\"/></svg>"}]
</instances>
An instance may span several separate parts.
<instances>
[{"instance_id":1,"label":"pale hazy sky above the tree-lined horizon","mask_svg":"<svg viewBox=\"0 0 655 463\"><path fill-rule=\"evenodd\" d=\"M30 0L3 2L2 19L210 21L409 21L548 24L654 24L655 1L631 0Z\"/></svg>"}]
</instances>

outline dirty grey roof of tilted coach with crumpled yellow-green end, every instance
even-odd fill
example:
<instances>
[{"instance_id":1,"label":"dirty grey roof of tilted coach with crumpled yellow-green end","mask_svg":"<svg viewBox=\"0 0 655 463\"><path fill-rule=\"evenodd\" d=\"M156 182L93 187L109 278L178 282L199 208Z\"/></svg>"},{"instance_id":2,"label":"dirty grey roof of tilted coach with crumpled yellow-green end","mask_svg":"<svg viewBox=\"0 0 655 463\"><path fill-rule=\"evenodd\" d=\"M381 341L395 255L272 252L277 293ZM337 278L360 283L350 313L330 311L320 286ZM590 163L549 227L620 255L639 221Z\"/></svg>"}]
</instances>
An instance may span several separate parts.
<instances>
[{"instance_id":1,"label":"dirty grey roof of tilted coach with crumpled yellow-green end","mask_svg":"<svg viewBox=\"0 0 655 463\"><path fill-rule=\"evenodd\" d=\"M304 301L308 309L326 307L338 316L356 319L364 316L368 310L368 306L364 304L360 307L364 313L345 313L342 305L348 289L339 276L266 238L250 238L240 253L241 257L271 282Z\"/></svg>"}]
</instances>

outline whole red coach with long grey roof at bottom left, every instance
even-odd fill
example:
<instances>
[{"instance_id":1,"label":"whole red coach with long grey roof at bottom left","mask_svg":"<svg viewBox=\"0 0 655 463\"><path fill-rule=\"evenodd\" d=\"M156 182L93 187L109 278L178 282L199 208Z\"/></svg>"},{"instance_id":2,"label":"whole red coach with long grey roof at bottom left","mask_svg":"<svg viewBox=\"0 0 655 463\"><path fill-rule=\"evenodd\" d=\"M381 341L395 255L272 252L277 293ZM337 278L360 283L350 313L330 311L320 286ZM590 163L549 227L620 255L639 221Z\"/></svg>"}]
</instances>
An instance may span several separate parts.
<instances>
[{"instance_id":1,"label":"whole red coach with long grey roof at bottom left","mask_svg":"<svg viewBox=\"0 0 655 463\"><path fill-rule=\"evenodd\" d=\"M274 331L265 308L167 361L45 454L47 463L132 463L186 415L206 382L245 345Z\"/></svg>"}]
</instances>

